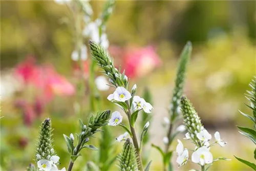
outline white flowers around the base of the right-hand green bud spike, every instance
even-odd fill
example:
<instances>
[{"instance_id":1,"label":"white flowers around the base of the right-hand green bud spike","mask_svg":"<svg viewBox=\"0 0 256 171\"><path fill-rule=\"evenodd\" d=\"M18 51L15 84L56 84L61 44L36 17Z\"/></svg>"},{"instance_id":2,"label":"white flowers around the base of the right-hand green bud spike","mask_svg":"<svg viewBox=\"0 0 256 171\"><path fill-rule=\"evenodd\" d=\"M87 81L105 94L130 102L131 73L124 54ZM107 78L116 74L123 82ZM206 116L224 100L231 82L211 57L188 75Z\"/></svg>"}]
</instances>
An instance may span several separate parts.
<instances>
[{"instance_id":1,"label":"white flowers around the base of the right-hand green bud spike","mask_svg":"<svg viewBox=\"0 0 256 171\"><path fill-rule=\"evenodd\" d=\"M204 127L201 127L201 131L196 134L197 139L200 141L200 147L196 145L195 151L192 153L191 161L194 163L198 163L201 166L204 166L205 164L210 164L214 161L212 154L210 153L210 146L214 145L215 143L218 143L220 146L225 146L226 142L223 142L220 137L220 133L216 132L214 134L215 136L215 142L210 144L209 141L211 139L211 135L208 133ZM191 139L193 138L194 134L185 134L184 139ZM183 147L182 142L178 139L178 145L176 147L176 152L178 154L178 158L176 162L179 164L179 166L182 166L186 164L188 161L188 150Z\"/></svg>"}]
</instances>

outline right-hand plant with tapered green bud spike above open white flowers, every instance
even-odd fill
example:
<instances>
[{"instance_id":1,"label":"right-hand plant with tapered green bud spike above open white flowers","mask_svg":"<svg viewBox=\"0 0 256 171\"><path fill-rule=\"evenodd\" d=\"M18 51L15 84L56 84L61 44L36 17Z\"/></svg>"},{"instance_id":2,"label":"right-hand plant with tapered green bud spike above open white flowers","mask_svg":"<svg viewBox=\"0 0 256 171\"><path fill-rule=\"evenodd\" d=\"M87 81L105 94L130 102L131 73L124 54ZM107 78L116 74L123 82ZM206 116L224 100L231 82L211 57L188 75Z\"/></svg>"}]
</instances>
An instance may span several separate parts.
<instances>
[{"instance_id":1,"label":"right-hand plant with tapered green bud spike above open white flowers","mask_svg":"<svg viewBox=\"0 0 256 171\"><path fill-rule=\"evenodd\" d=\"M204 128L196 110L190 101L186 97L182 97L180 100L180 105L184 124L186 126L186 130L188 131L185 134L185 139L190 140L195 144L195 149L189 149L189 151L193 152L191 155L191 161L200 165L201 171L206 171L209 170L210 166L218 160L229 160L223 157L214 159L210 152L210 147L212 145L219 144L221 147L225 146L226 142L221 139L220 133L216 132L214 134L214 142L209 143L212 137ZM182 142L179 139L176 152L178 155L176 161L179 166L186 164L189 160L188 149L184 148Z\"/></svg>"}]
</instances>

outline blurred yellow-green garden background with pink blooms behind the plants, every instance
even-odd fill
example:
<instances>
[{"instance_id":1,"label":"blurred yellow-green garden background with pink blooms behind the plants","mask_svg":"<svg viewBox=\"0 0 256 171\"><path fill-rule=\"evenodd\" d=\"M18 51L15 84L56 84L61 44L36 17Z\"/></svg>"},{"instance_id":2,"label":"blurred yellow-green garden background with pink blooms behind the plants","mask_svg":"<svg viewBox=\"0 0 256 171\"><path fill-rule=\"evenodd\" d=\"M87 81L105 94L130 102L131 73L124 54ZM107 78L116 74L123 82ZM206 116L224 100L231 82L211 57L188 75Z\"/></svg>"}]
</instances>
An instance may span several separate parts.
<instances>
[{"instance_id":1,"label":"blurred yellow-green garden background with pink blooms behind the plants","mask_svg":"<svg viewBox=\"0 0 256 171\"><path fill-rule=\"evenodd\" d=\"M4 116L1 119L0 167L24 170L33 161L38 127L46 117L52 119L61 166L67 167L69 156L62 134L78 131L78 118L86 122L90 114L90 64L84 65L86 77L84 89L81 89L77 63L71 59L74 50L71 11L66 5L53 1L0 3L1 111ZM95 17L103 3L91 2ZM163 117L168 116L179 54L190 40L193 52L184 94L193 102L206 129L212 134L218 130L228 142L224 148L213 147L214 156L232 159L217 162L211 170L250 170L233 155L253 161L255 145L238 133L236 125L252 125L238 110L250 113L244 105L247 103L244 93L256 73L255 25L253 1L116 2L106 26L109 51L116 63L131 72L131 85L137 83L139 95L145 88L152 93L152 143L163 146L166 134ZM148 60L140 61L142 54L146 54ZM17 77L27 71L32 74L31 68L35 66L40 69L40 75L33 78L38 84L31 85ZM47 75L53 80L42 86ZM76 95L80 89L82 99ZM102 110L116 109L106 100L112 92L113 89L99 91ZM77 101L86 111L82 115L76 114ZM122 133L116 127L110 130L113 137ZM97 138L93 141L97 146ZM174 142L173 149L176 144ZM120 152L121 144L115 142L114 145L115 153ZM162 170L160 154L155 149L151 149L150 154L152 170ZM95 156L97 152L85 152L78 162L83 166L89 160L96 160ZM174 163L175 160L174 156ZM175 170L188 170L193 166L196 167L194 164L180 168L175 165ZM114 165L111 170L117 167Z\"/></svg>"}]
</instances>

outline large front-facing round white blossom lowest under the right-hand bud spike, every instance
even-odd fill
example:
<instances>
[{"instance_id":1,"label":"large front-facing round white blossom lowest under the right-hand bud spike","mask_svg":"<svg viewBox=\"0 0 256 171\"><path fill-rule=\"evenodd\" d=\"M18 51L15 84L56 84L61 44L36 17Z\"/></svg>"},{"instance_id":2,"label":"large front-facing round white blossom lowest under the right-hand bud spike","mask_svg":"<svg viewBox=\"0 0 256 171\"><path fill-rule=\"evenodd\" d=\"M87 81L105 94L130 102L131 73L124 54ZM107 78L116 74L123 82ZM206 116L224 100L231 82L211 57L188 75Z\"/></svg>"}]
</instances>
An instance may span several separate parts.
<instances>
[{"instance_id":1,"label":"large front-facing round white blossom lowest under the right-hand bud spike","mask_svg":"<svg viewBox=\"0 0 256 171\"><path fill-rule=\"evenodd\" d=\"M200 147L195 151L192 156L191 160L194 163L199 163L200 165L210 164L213 161L212 154L209 152L209 149L205 146Z\"/></svg>"}]
</instances>

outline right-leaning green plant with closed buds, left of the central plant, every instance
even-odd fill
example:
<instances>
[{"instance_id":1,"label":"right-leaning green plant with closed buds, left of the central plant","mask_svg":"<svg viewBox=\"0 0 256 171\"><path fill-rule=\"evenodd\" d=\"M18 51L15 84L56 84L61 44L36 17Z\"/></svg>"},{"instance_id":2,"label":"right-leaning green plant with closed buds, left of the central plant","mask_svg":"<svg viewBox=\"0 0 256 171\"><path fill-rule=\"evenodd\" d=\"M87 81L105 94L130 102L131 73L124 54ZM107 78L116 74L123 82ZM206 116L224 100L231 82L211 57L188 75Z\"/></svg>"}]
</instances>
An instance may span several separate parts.
<instances>
[{"instance_id":1,"label":"right-leaning green plant with closed buds, left of the central plant","mask_svg":"<svg viewBox=\"0 0 256 171\"><path fill-rule=\"evenodd\" d=\"M88 145L87 142L90 140L91 136L93 136L95 133L100 131L99 128L101 126L108 124L109 119L110 119L110 111L100 111L100 112L97 112L96 116L91 115L88 125L83 124L82 121L79 120L80 133L75 134L76 140L77 140L76 145L75 145L75 137L73 134L70 134L69 137L67 135L63 135L67 143L68 152L71 158L68 171L72 170L74 162L76 161L77 157L81 156L79 152L81 151L82 148L90 148L93 150L97 150L95 146Z\"/></svg>"}]
</instances>

